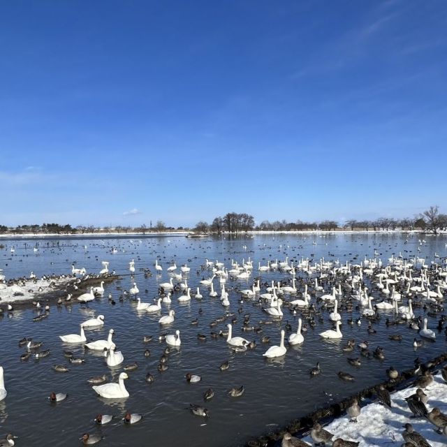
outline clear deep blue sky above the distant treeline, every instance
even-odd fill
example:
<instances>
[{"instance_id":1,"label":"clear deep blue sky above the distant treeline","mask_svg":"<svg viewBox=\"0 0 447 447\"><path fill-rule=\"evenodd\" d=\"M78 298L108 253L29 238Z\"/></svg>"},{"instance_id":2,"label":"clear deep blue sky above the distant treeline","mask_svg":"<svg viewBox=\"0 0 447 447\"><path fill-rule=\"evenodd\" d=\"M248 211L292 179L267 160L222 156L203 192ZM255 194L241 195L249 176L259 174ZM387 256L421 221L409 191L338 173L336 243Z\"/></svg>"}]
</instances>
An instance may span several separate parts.
<instances>
[{"instance_id":1,"label":"clear deep blue sky above the distant treeline","mask_svg":"<svg viewBox=\"0 0 447 447\"><path fill-rule=\"evenodd\" d=\"M446 1L3 1L0 223L447 212Z\"/></svg>"}]
</instances>

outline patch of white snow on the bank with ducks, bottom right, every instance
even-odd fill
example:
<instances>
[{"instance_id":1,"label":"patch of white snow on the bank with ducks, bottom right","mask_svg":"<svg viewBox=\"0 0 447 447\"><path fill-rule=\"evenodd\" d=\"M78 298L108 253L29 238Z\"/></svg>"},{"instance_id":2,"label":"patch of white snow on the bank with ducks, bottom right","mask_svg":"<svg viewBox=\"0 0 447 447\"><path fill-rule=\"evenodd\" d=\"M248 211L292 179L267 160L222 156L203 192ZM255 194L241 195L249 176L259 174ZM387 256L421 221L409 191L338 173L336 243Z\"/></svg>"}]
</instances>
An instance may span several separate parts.
<instances>
[{"instance_id":1,"label":"patch of white snow on the bank with ducks, bottom right","mask_svg":"<svg viewBox=\"0 0 447 447\"><path fill-rule=\"evenodd\" d=\"M430 412L437 406L443 413L447 413L447 383L439 372L434 381L424 389L428 396L427 409ZM447 436L434 431L436 427L424 418L411 418L412 413L404 398L416 393L416 387L406 388L391 395L392 408L388 409L379 403L362 407L358 423L349 422L349 416L334 420L325 426L325 430L333 433L337 438L346 441L358 441L359 447L369 446L397 446L404 443L402 425L411 423L414 430L427 439L432 447L446 447ZM312 438L306 437L303 441L312 444Z\"/></svg>"}]
</instances>

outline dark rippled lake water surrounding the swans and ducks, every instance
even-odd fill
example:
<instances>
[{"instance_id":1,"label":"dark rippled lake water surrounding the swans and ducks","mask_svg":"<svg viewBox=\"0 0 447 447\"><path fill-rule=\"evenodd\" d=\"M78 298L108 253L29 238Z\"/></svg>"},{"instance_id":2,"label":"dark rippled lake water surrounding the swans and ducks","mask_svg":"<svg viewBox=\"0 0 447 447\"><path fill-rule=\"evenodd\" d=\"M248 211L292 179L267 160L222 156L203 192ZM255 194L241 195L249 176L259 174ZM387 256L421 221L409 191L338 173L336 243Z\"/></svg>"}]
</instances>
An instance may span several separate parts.
<instances>
[{"instance_id":1,"label":"dark rippled lake water surrounding the swans and ducks","mask_svg":"<svg viewBox=\"0 0 447 447\"><path fill-rule=\"evenodd\" d=\"M31 308L16 310L0 318L0 365L5 370L5 383L8 390L6 400L0 402L0 434L13 432L20 438L17 446L78 446L83 433L103 434L105 440L98 445L105 446L239 446L249 439L257 437L277 425L325 406L343 397L356 393L367 386L372 386L386 379L386 368L393 365L398 370L413 366L413 360L419 357L427 360L446 351L444 333L437 335L436 342L425 342L417 351L413 349L413 337L416 331L406 325L387 327L386 316L393 318L393 312L383 312L381 321L374 325L376 334L367 332L367 320L362 325L349 325L348 318L356 319L361 310L352 313L342 311L342 341L323 341L318 333L329 329L331 323L329 312L323 311L323 322L316 318L314 329L309 328L304 334L305 342L298 347L289 347L284 358L266 361L263 353L272 344L279 344L280 329L286 323L296 330L298 315L294 316L283 307L284 317L270 325L261 325L263 332L242 332L244 314L250 314L250 322L258 326L259 321L273 320L262 312L258 300L244 300L240 303L237 289L250 288L255 277L261 277L261 283L274 280L290 280L291 274L272 270L258 272L258 262L266 265L267 261L300 261L302 257L312 258L314 262L349 261L360 263L367 258L381 258L384 264L393 254L403 258L419 256L441 262L435 254L446 256L445 236L425 236L425 242L418 242L418 235L400 233L341 233L327 235L254 235L234 239L206 238L187 239L186 237L122 237L122 238L57 238L41 240L3 240L6 248L0 251L0 268L7 278L28 275L61 274L71 272L71 264L85 267L87 272L99 272L101 261L109 261L110 270L115 270L122 279L105 287L103 298L91 302L89 309L78 304L57 307L51 305L50 316L40 322L33 322L36 311ZM24 248L24 243L27 248ZM34 245L38 251L34 252ZM57 246L59 244L59 247ZM87 246L87 249L84 248ZM10 253L15 247L15 253ZM118 252L111 253L112 247ZM187 274L191 291L195 291L203 277L212 276L211 270L203 270L205 258L219 260L231 268L231 260L242 263L251 257L254 270L248 280L234 280L228 277L226 287L229 292L230 307L221 305L219 298L210 298L208 289L200 286L203 300L194 298L186 305L180 305L175 293L171 305L162 305L161 314L149 315L135 310L133 300L125 298L119 301L119 295L129 290L132 279L129 274L129 261L135 260L135 282L138 294L143 302L153 302L158 285L169 281L166 269L171 261L180 265L186 263L191 271ZM154 261L159 259L163 266L161 275L155 274ZM143 269L149 268L153 276L145 278ZM416 273L420 264L416 265ZM297 272L297 278L312 279L308 274ZM176 282L176 281L175 281ZM369 279L365 284L371 290ZM121 290L117 290L117 287ZM214 287L219 291L219 281L214 279ZM300 286L300 289L302 287ZM309 288L310 290L310 288ZM261 287L261 293L264 293ZM110 305L109 293L117 302ZM328 291L330 293L330 290ZM1 293L0 293L1 295ZM379 297L373 291L374 297ZM346 295L349 296L349 295ZM286 299L295 299L287 298ZM312 298L315 302L315 298ZM406 304L406 302L404 303ZM0 302L1 306L1 302ZM320 304L317 304L319 307ZM4 307L4 306L3 306ZM158 319L166 315L169 309L175 310L175 322L161 328ZM240 309L240 312L238 312ZM210 323L226 312L234 312L235 317L211 328ZM115 330L114 341L117 349L124 354L124 363L119 367L109 368L99 354L85 350L82 345L67 346L59 335L78 333L79 325L91 316L103 314L105 326L99 330L87 332L87 339L104 339L108 330ZM422 308L415 310L416 315L424 314ZM198 318L198 325L191 321ZM256 340L257 346L245 353L234 353L228 348L225 337L212 339L210 332L226 330L226 323L237 318L233 325L233 336L239 335L249 340ZM428 318L429 327L435 329L436 318ZM168 370L158 372L157 365L163 354L166 342L159 341L162 333L180 331L182 345L170 353ZM206 341L197 338L198 333L207 335ZM402 342L391 342L389 335L399 333ZM148 344L142 342L143 335L153 335ZM270 336L270 344L262 344L261 337ZM39 361L30 358L21 362L20 355L24 349L17 342L22 337L33 337L44 343L43 348L50 349L51 355ZM286 338L288 334L286 335ZM386 360L367 360L361 358L362 366L353 367L346 362L347 357L358 357L358 349L353 353L343 353L341 346L349 338L357 343L369 341L371 351L376 346L384 346ZM75 356L82 356L83 365L70 365L63 356L64 349L71 349ZM144 351L149 349L151 356L145 358ZM221 372L219 365L229 361L228 370ZM108 402L96 396L86 382L91 376L107 374L108 379L117 381L122 367L138 362L138 369L129 372L130 379L125 381L130 397L121 402ZM309 369L321 362L322 374L309 376ZM66 364L70 371L66 374L54 372L52 365ZM338 371L349 372L356 377L353 383L341 381ZM147 372L154 375L154 383L145 381ZM199 383L186 383L187 372L200 374ZM228 390L235 386L244 386L242 397L230 397ZM203 402L203 393L207 388L214 390L214 398ZM51 391L68 393L68 399L59 404L50 404L47 396ZM210 413L210 418L193 416L187 408L189 404L202 404ZM140 423L124 426L122 417L126 411L142 413ZM112 413L112 423L98 427L93 420L97 413Z\"/></svg>"}]
</instances>

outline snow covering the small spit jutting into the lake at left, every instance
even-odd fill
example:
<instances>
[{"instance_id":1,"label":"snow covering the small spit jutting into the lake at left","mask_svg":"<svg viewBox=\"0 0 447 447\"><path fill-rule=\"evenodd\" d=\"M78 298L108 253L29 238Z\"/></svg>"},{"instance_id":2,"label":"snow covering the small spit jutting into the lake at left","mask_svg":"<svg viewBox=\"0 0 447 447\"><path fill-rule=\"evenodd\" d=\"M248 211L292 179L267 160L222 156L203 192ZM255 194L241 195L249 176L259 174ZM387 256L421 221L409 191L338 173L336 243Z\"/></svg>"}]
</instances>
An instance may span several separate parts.
<instances>
[{"instance_id":1,"label":"snow covering the small spit jutting into the lake at left","mask_svg":"<svg viewBox=\"0 0 447 447\"><path fill-rule=\"evenodd\" d=\"M0 305L8 302L20 302L27 300L36 300L37 297L59 290L61 286L73 281L73 277L63 277L55 279L27 279L26 281L20 281L20 285L14 284L13 286L7 286L6 284L0 284ZM51 285L50 285L51 284Z\"/></svg>"}]
</instances>

